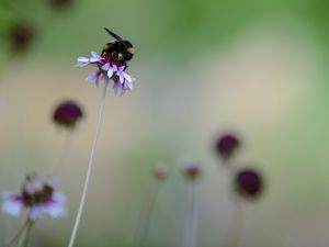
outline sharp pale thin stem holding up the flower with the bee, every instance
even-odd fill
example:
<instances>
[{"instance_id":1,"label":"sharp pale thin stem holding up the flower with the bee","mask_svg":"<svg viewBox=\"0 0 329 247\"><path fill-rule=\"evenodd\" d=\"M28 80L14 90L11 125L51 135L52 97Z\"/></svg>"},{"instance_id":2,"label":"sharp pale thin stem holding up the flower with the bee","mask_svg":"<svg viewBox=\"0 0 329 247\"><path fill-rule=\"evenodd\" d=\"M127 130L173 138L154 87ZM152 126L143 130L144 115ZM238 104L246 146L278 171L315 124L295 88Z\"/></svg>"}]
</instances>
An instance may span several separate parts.
<instances>
[{"instance_id":1,"label":"sharp pale thin stem holding up the flower with the bee","mask_svg":"<svg viewBox=\"0 0 329 247\"><path fill-rule=\"evenodd\" d=\"M68 247L72 247L75 245L76 235L77 235L77 232L78 232L78 227L79 227L79 224L80 224L80 220L81 220L81 215L82 215L82 211L83 211L83 206L84 206L84 201L86 201L86 195L87 195L87 191L88 191L89 180L90 180L91 170L92 170L92 166L93 166L94 153L95 153L97 144L98 144L98 141L99 141L100 130L101 130L101 124L102 124L102 119L103 119L102 116L103 116L103 110L104 110L104 105L105 105L106 89L107 89L107 86L104 85L102 101L101 101L101 104L100 104L99 115L98 115L98 121L97 121L97 126L95 126L94 139L93 139L93 143L92 143L92 147L91 147L91 151L90 151L90 156L89 156L88 170L87 170L87 175L86 175L86 179L84 179L82 195L81 195L79 210L78 210L78 213L77 213L75 226L73 226L73 229L72 229L72 233L71 233L71 236L70 236Z\"/></svg>"}]
</instances>

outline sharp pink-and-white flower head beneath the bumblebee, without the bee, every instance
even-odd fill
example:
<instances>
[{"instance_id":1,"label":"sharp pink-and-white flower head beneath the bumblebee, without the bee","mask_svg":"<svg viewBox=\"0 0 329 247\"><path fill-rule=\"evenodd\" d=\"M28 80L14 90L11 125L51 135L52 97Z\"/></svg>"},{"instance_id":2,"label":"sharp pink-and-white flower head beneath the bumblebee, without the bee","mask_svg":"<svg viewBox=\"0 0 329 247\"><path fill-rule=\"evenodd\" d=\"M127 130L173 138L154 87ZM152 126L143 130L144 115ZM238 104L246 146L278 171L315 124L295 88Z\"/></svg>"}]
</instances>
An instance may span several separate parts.
<instances>
[{"instance_id":1,"label":"sharp pink-and-white flower head beneath the bumblebee, without the bee","mask_svg":"<svg viewBox=\"0 0 329 247\"><path fill-rule=\"evenodd\" d=\"M135 80L131 75L126 72L127 63L111 56L111 54L99 55L95 52L91 52L91 57L78 57L77 66L83 67L92 65L98 68L88 75L87 81L93 82L99 86L99 81L103 81L106 86L110 80L113 80L113 89L115 94L124 94L126 91L133 89L133 81Z\"/></svg>"}]
</instances>

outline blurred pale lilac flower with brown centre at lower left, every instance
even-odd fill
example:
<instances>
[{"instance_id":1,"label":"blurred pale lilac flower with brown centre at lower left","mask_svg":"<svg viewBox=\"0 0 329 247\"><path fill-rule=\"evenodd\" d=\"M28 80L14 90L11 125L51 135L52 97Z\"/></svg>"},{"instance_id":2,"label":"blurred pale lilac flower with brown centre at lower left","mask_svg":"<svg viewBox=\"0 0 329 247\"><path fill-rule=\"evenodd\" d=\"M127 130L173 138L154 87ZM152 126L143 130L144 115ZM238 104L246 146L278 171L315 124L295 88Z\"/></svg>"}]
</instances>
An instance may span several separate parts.
<instances>
[{"instance_id":1,"label":"blurred pale lilac flower with brown centre at lower left","mask_svg":"<svg viewBox=\"0 0 329 247\"><path fill-rule=\"evenodd\" d=\"M53 180L46 180L36 175L27 176L21 192L4 192L2 194L2 211L7 214L19 216L23 209L30 210L32 221L49 216L65 216L66 197L55 192Z\"/></svg>"}]
</instances>

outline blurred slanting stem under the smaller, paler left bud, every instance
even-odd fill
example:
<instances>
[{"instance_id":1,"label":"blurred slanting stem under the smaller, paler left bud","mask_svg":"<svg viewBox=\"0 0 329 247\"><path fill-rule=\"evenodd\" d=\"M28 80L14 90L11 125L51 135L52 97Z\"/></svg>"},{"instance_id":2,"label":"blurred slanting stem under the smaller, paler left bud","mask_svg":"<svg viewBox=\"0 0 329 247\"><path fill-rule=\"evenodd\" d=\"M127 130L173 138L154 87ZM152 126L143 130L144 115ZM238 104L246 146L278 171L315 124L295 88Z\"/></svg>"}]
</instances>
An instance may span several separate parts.
<instances>
[{"instance_id":1,"label":"blurred slanting stem under the smaller, paler left bud","mask_svg":"<svg viewBox=\"0 0 329 247\"><path fill-rule=\"evenodd\" d=\"M152 191L146 198L145 204L143 205L139 212L133 247L135 246L141 247L147 239L149 224L150 224L152 212L155 210L159 187L160 187L160 182L157 181Z\"/></svg>"}]
</instances>

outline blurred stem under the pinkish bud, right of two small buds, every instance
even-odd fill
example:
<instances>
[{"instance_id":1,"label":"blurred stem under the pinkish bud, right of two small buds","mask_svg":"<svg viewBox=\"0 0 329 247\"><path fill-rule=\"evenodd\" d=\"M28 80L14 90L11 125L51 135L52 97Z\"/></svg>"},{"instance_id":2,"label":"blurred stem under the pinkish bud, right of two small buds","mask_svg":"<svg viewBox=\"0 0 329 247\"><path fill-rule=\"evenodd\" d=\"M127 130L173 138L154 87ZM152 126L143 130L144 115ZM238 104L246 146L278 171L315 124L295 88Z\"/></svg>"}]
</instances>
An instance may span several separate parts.
<instances>
[{"instance_id":1,"label":"blurred stem under the pinkish bud, right of two small buds","mask_svg":"<svg viewBox=\"0 0 329 247\"><path fill-rule=\"evenodd\" d=\"M186 218L185 225L185 247L194 247L196 242L196 229L197 229L197 211L196 211L196 197L195 197L196 182L191 182L191 217Z\"/></svg>"}]
</instances>

